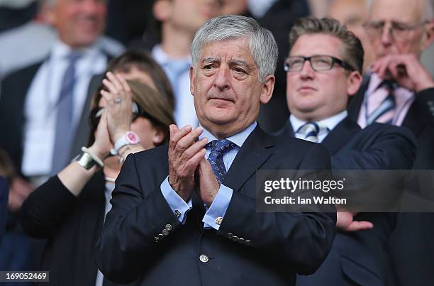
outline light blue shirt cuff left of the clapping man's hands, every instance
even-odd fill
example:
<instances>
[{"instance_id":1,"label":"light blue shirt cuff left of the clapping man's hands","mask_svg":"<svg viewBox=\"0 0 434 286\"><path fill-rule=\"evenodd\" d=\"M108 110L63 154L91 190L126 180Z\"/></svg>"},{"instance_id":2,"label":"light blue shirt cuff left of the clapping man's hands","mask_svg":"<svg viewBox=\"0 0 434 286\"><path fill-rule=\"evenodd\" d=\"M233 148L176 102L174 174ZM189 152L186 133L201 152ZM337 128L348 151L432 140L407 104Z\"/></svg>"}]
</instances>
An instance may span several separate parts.
<instances>
[{"instance_id":1,"label":"light blue shirt cuff left of the clapping man's hands","mask_svg":"<svg viewBox=\"0 0 434 286\"><path fill-rule=\"evenodd\" d=\"M186 203L179 194L172 189L169 184L169 176L161 183L160 186L163 197L165 197L167 204L169 204L170 209L172 209L175 216L181 224L185 224L187 219L187 212L193 207L191 204L191 199Z\"/></svg>"}]
</instances>

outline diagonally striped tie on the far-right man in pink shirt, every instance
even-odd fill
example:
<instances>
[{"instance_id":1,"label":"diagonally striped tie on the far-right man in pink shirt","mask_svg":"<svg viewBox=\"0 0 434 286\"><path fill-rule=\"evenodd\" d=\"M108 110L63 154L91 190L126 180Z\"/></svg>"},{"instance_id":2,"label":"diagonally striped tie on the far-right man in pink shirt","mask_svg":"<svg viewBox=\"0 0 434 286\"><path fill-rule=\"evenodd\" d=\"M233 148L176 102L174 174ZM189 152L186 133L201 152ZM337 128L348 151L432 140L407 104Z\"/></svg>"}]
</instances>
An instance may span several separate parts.
<instances>
[{"instance_id":1,"label":"diagonally striped tie on the far-right man in pink shirt","mask_svg":"<svg viewBox=\"0 0 434 286\"><path fill-rule=\"evenodd\" d=\"M394 119L396 107L394 90L396 89L396 84L389 80L384 80L379 84L378 88L382 87L387 89L387 97L376 109L374 109L374 111L372 111L371 114L369 114L367 117L367 125L373 122L392 123L392 120Z\"/></svg>"}]
</instances>

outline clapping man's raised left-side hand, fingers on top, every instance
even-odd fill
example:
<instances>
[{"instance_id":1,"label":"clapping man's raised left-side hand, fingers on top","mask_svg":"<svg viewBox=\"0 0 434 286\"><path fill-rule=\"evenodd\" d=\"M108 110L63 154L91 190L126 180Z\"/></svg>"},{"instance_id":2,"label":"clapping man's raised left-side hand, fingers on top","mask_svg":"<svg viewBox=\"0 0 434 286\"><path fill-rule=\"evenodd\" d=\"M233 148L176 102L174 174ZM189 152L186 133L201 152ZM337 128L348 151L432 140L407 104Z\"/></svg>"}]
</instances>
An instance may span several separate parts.
<instances>
[{"instance_id":1,"label":"clapping man's raised left-side hand, fingers on top","mask_svg":"<svg viewBox=\"0 0 434 286\"><path fill-rule=\"evenodd\" d=\"M196 141L204 131L200 126L191 130L191 126L178 129L171 125L169 130L169 184L188 202L195 189L194 173L205 156L208 139Z\"/></svg>"}]
</instances>

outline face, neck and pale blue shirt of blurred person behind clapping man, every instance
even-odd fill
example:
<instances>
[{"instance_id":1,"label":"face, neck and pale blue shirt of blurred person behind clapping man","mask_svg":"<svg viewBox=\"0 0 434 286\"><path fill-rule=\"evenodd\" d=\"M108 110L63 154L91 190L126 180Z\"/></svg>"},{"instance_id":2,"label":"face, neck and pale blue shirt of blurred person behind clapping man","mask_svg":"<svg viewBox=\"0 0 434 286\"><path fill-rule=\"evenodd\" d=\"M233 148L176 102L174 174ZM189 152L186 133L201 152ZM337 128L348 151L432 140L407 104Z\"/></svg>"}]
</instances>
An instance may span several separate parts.
<instances>
[{"instance_id":1,"label":"face, neck and pale blue shirt of blurred person behind clapping man","mask_svg":"<svg viewBox=\"0 0 434 286\"><path fill-rule=\"evenodd\" d=\"M157 44L149 46L148 38L134 43L133 48L150 48L152 56L165 70L175 98L174 118L178 126L197 126L190 93L190 44L196 30L205 21L220 15L219 0L155 0L152 5Z\"/></svg>"}]
</instances>

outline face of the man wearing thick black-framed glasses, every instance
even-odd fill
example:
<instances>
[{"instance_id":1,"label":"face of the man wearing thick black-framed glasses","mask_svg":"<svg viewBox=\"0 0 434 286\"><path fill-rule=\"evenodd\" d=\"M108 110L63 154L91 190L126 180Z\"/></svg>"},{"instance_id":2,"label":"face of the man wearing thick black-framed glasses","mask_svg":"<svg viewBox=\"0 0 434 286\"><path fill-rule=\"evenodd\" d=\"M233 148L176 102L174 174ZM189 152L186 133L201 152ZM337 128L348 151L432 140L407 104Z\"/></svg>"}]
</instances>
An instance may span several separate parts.
<instances>
[{"instance_id":1,"label":"face of the man wearing thick black-framed glasses","mask_svg":"<svg viewBox=\"0 0 434 286\"><path fill-rule=\"evenodd\" d=\"M342 47L342 41L332 35L306 34L296 40L289 55L330 55L345 60ZM301 71L287 72L286 80L286 100L291 114L301 120L319 121L346 109L348 95L357 92L361 76L359 72L349 74L336 63L331 70L316 72L306 61Z\"/></svg>"}]
</instances>

